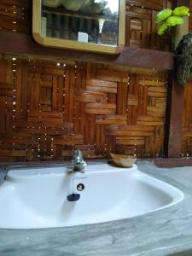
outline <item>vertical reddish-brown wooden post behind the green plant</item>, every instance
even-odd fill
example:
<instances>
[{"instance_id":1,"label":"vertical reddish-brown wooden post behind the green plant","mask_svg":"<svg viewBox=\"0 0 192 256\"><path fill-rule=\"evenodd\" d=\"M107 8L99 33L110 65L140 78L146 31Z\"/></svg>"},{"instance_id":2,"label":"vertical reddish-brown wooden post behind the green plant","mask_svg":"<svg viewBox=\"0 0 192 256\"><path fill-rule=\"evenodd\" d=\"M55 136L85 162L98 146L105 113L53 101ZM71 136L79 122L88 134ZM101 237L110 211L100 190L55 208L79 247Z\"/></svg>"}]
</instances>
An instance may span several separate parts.
<instances>
[{"instance_id":1,"label":"vertical reddish-brown wooden post behind the green plant","mask_svg":"<svg viewBox=\"0 0 192 256\"><path fill-rule=\"evenodd\" d=\"M189 6L189 1L177 0L176 6ZM176 45L189 32L189 18L184 20L181 27L176 30ZM179 157L181 154L182 142L182 118L184 108L184 87L177 84L174 70L169 78L169 87L166 102L166 136L165 154L166 157Z\"/></svg>"}]
</instances>

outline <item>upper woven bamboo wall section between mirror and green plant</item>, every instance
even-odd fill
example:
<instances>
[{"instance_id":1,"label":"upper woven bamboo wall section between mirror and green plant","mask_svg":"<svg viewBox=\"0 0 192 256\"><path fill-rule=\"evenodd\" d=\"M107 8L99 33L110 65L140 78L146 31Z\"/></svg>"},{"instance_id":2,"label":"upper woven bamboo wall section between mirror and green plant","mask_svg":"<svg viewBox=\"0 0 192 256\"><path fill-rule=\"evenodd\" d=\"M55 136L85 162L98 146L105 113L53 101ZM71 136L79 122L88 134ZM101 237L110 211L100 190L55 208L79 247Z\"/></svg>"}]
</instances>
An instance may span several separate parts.
<instances>
[{"instance_id":1,"label":"upper woven bamboo wall section between mirror and green plant","mask_svg":"<svg viewBox=\"0 0 192 256\"><path fill-rule=\"evenodd\" d=\"M157 35L155 17L160 9L172 8L172 1L126 1L125 45L131 47L170 50L171 38Z\"/></svg>"}]
</instances>

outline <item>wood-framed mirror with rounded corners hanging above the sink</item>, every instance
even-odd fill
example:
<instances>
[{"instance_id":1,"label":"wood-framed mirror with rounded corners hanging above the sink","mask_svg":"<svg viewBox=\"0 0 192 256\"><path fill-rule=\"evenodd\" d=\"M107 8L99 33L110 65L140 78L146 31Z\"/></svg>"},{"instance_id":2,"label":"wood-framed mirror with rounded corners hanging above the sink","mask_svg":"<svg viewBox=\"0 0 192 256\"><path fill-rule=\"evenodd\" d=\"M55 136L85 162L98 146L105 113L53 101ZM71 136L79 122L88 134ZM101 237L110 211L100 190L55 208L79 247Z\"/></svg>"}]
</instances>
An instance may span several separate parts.
<instances>
[{"instance_id":1,"label":"wood-framed mirror with rounded corners hanging above the sink","mask_svg":"<svg viewBox=\"0 0 192 256\"><path fill-rule=\"evenodd\" d=\"M119 53L125 41L125 0L33 0L39 44Z\"/></svg>"}]
</instances>

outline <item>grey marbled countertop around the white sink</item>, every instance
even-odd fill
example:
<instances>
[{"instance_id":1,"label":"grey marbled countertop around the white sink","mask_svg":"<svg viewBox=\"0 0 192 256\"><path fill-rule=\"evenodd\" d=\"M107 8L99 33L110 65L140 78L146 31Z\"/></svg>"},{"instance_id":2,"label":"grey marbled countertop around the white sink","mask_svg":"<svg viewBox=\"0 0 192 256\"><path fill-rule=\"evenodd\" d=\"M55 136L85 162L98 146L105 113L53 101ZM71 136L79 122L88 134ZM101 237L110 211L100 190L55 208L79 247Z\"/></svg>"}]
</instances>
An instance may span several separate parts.
<instances>
[{"instance_id":1,"label":"grey marbled countertop around the white sink","mask_svg":"<svg viewBox=\"0 0 192 256\"><path fill-rule=\"evenodd\" d=\"M0 230L0 255L192 255L192 168L160 169L148 161L139 161L137 166L140 171L181 189L184 200L157 212L103 224Z\"/></svg>"}]
</instances>

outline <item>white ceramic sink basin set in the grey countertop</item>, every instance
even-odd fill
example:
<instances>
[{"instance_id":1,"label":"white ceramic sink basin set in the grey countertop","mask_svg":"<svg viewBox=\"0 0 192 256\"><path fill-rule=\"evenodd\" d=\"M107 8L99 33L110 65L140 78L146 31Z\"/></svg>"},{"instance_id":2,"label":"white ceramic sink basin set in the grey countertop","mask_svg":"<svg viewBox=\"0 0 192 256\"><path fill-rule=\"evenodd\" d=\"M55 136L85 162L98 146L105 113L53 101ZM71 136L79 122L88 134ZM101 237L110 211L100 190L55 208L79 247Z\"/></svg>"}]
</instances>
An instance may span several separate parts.
<instances>
[{"instance_id":1,"label":"white ceramic sink basin set in the grey countertop","mask_svg":"<svg viewBox=\"0 0 192 256\"><path fill-rule=\"evenodd\" d=\"M0 186L0 228L38 229L131 218L171 207L183 192L132 168L89 165L74 174L67 167L15 169ZM84 184L79 192L76 187Z\"/></svg>"}]
</instances>

